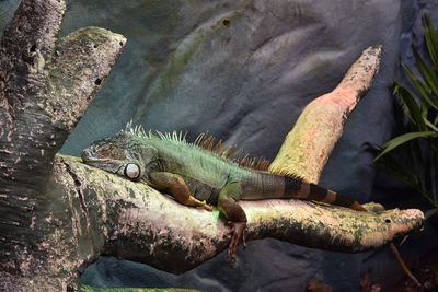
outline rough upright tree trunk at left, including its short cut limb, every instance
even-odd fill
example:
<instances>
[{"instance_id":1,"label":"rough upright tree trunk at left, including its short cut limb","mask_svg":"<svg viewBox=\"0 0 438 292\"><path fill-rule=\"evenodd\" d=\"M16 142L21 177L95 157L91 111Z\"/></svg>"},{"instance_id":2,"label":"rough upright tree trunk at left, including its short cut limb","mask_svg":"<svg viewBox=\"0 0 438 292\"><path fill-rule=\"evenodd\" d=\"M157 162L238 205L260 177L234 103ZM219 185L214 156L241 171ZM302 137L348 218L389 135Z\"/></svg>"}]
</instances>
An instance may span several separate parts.
<instances>
[{"instance_id":1,"label":"rough upright tree trunk at left, including its short cut limb","mask_svg":"<svg viewBox=\"0 0 438 292\"><path fill-rule=\"evenodd\" d=\"M24 0L1 39L0 290L77 287L92 255L61 236L74 232L73 207L47 196L47 179L126 40L89 27L56 43L64 11L60 0Z\"/></svg>"}]
</instances>

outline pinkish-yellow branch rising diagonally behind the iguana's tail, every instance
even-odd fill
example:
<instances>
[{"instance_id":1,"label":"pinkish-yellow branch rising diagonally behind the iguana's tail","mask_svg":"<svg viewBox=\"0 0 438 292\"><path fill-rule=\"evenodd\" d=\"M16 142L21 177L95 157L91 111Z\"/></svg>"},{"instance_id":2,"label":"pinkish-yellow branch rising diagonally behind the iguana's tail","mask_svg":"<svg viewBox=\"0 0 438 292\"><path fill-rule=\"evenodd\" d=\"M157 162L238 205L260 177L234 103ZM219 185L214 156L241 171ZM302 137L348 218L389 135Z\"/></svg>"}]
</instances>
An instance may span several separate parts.
<instances>
[{"instance_id":1,"label":"pinkish-yellow branch rising diagonally behind the iguana's tail","mask_svg":"<svg viewBox=\"0 0 438 292\"><path fill-rule=\"evenodd\" d=\"M379 71L381 54L381 46L366 49L335 90L306 106L269 171L300 174L318 183L344 122Z\"/></svg>"}]
</instances>

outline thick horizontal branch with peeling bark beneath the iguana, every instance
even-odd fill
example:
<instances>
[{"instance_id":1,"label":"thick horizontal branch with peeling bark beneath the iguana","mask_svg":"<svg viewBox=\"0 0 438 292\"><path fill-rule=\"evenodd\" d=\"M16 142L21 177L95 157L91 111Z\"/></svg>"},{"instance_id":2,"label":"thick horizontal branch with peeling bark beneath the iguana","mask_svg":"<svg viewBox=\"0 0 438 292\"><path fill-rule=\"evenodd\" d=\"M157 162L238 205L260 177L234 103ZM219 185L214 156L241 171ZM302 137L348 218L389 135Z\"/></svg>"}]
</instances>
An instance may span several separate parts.
<instances>
[{"instance_id":1,"label":"thick horizontal branch with peeling bark beneath the iguana","mask_svg":"<svg viewBox=\"0 0 438 292\"><path fill-rule=\"evenodd\" d=\"M78 187L74 179L66 180L70 176L81 185ZM79 218L83 227L78 233L106 238L105 243L101 241L104 255L181 273L228 246L229 227L214 213L182 206L145 184L87 166L77 159L58 156L53 184L58 194L71 189L82 194L85 203ZM384 211L374 205L368 208L376 213L300 200L241 205L249 220L247 240L275 237L345 253L380 247L419 230L424 219L419 210ZM93 213L93 220L89 221L87 213Z\"/></svg>"}]
</instances>

